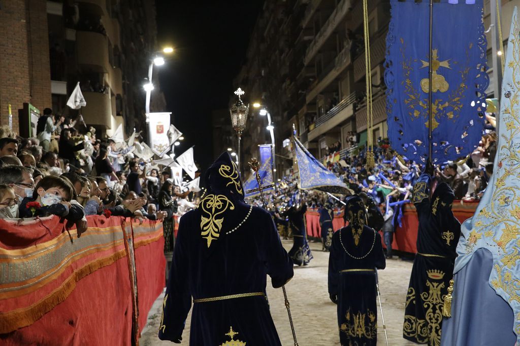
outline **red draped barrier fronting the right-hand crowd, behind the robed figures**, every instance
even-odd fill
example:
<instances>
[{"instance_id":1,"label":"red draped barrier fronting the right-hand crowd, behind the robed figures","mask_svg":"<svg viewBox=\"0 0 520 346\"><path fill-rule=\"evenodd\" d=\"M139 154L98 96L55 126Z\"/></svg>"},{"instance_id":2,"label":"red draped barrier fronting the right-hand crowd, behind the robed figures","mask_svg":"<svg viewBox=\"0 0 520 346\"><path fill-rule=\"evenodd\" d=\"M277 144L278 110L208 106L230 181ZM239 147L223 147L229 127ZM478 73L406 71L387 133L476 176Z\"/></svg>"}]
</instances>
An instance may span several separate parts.
<instances>
[{"instance_id":1,"label":"red draped barrier fronting the right-hand crowd, behind the robed figures","mask_svg":"<svg viewBox=\"0 0 520 346\"><path fill-rule=\"evenodd\" d=\"M470 218L475 213L478 202L453 202L453 215L463 223L464 220ZM340 216L341 215L341 216ZM319 214L314 210L309 210L306 213L307 222L307 236L309 237L320 237L320 224ZM392 248L398 251L404 251L409 253L417 252L417 230L419 228L419 219L417 218L417 212L415 206L411 203L405 204L403 207L403 216L401 219L402 226L397 227L394 232L394 241L392 242ZM332 222L334 230L343 227L343 213L334 215ZM381 237L383 241L383 237ZM385 246L383 244L383 246Z\"/></svg>"}]
</instances>

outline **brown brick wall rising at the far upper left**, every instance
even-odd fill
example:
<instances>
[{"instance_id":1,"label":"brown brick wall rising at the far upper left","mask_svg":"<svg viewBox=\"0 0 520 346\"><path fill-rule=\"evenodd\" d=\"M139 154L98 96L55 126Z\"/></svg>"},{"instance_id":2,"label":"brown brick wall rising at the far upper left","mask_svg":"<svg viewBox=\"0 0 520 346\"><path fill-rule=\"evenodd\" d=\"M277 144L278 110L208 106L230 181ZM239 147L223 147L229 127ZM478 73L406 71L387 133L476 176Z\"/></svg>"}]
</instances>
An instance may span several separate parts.
<instances>
[{"instance_id":1,"label":"brown brick wall rising at the far upper left","mask_svg":"<svg viewBox=\"0 0 520 346\"><path fill-rule=\"evenodd\" d=\"M24 102L40 110L51 106L46 2L2 3L0 52L0 125L8 123L10 103L18 132L18 109Z\"/></svg>"}]
</instances>

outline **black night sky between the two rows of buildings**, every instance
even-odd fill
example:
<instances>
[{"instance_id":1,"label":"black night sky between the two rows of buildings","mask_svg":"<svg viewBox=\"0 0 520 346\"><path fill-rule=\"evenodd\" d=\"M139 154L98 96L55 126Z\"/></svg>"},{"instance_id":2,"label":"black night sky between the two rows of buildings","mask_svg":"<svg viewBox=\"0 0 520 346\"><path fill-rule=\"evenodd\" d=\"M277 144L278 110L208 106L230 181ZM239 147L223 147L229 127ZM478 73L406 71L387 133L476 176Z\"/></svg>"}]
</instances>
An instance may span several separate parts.
<instances>
[{"instance_id":1,"label":"black night sky between the two rows of buildings","mask_svg":"<svg viewBox=\"0 0 520 346\"><path fill-rule=\"evenodd\" d=\"M158 44L175 52L160 67L159 80L168 112L185 141L176 154L194 145L204 171L215 158L211 111L227 108L232 80L245 61L261 0L156 0Z\"/></svg>"}]
</instances>

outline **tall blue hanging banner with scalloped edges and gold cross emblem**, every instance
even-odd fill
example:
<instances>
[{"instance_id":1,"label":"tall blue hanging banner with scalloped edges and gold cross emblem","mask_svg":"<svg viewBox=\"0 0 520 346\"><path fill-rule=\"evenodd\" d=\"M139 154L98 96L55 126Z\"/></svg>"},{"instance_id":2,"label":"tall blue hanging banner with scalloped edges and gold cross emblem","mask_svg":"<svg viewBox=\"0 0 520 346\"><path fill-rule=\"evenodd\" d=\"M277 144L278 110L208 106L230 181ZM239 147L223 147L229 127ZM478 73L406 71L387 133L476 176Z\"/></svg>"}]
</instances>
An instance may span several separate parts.
<instances>
[{"instance_id":1,"label":"tall blue hanging banner with scalloped edges and gold cross emblem","mask_svg":"<svg viewBox=\"0 0 520 346\"><path fill-rule=\"evenodd\" d=\"M483 0L433 3L391 0L385 82L388 139L402 156L428 157L432 64L432 162L471 154L482 135L486 108L487 42Z\"/></svg>"}]
</instances>

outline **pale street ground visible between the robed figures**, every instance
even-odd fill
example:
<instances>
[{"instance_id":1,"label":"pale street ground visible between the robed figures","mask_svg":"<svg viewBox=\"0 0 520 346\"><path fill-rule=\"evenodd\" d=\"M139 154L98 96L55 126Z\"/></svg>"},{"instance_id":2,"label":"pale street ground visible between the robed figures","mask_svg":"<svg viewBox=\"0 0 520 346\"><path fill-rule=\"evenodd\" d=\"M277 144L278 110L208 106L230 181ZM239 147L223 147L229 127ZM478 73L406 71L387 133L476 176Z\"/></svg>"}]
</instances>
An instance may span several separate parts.
<instances>
[{"instance_id":1,"label":"pale street ground visible between the robed figures","mask_svg":"<svg viewBox=\"0 0 520 346\"><path fill-rule=\"evenodd\" d=\"M283 241L285 249L291 248L292 241ZM329 253L321 251L320 243L310 243L314 259L309 266L294 267L294 279L285 287L291 303L296 337L301 346L340 345L336 320L336 306L330 301L327 291L327 270ZM414 345L402 338L402 322L404 304L410 272L411 261L397 259L387 260L386 269L379 271L381 302L385 317L389 345ZM268 280L267 295L282 345L292 345L292 334L283 303L281 289L273 289ZM154 303L148 316L148 324L142 333L141 346L171 345L170 342L157 338L159 321L161 319L161 304L163 295ZM379 309L379 304L378 304ZM191 315L188 315L186 328L181 345L188 345L189 325ZM381 313L378 314L378 345L384 345L385 335Z\"/></svg>"}]
</instances>

